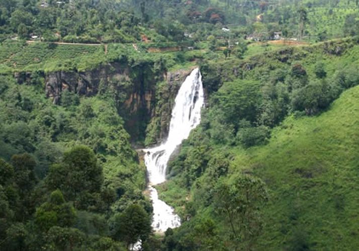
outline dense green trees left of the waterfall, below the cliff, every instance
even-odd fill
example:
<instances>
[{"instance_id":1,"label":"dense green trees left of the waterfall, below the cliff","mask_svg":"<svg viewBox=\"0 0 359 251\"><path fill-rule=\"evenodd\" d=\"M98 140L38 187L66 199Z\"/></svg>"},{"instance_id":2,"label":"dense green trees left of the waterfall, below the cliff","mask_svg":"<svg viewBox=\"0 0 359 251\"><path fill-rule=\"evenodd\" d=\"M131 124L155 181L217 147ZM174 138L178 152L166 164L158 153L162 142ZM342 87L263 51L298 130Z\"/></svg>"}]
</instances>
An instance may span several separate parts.
<instances>
[{"instance_id":1,"label":"dense green trees left of the waterfall, below the cliff","mask_svg":"<svg viewBox=\"0 0 359 251\"><path fill-rule=\"evenodd\" d=\"M152 208L141 193L145 169L131 149L113 96L79 98L65 91L65 105L56 106L44 97L41 72L32 76L22 85L10 76L1 78L0 156L12 159L12 166L1 161L0 169L2 246L124 248L110 238L107 219L133 202L148 212ZM79 144L96 152L74 147ZM16 221L27 222L24 231ZM78 238L84 234L92 237Z\"/></svg>"}]
</instances>

